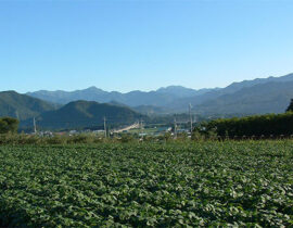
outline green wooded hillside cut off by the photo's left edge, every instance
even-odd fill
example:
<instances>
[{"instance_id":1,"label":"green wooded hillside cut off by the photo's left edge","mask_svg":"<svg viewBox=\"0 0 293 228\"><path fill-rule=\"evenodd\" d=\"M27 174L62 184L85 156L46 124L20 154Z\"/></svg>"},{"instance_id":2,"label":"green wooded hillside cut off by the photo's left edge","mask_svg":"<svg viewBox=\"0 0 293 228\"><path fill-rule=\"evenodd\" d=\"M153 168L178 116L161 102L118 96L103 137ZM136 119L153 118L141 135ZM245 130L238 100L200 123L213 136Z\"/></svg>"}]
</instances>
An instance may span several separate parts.
<instances>
[{"instance_id":1,"label":"green wooded hillside cut off by the photo's left edge","mask_svg":"<svg viewBox=\"0 0 293 228\"><path fill-rule=\"evenodd\" d=\"M11 116L24 121L55 110L55 107L54 104L15 91L0 92L0 116Z\"/></svg>"}]
</instances>

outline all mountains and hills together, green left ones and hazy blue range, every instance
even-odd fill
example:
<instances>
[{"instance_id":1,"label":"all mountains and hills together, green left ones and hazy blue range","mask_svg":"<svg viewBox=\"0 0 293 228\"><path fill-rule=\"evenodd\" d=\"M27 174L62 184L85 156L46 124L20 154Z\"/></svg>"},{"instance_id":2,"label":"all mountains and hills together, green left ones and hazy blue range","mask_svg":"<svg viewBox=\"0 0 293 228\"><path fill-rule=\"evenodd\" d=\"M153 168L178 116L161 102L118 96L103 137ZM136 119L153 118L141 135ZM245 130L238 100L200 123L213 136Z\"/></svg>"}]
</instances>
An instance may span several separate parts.
<instances>
[{"instance_id":1,"label":"all mountains and hills together, green left ones and hazy blue range","mask_svg":"<svg viewBox=\"0 0 293 228\"><path fill-rule=\"evenodd\" d=\"M44 128L91 127L110 123L130 124L148 115L192 112L209 115L283 113L293 98L293 74L233 83L226 88L194 90L180 86L156 91L106 92L95 87L73 92L0 92L0 116L17 117L30 126L35 117Z\"/></svg>"}]
</instances>

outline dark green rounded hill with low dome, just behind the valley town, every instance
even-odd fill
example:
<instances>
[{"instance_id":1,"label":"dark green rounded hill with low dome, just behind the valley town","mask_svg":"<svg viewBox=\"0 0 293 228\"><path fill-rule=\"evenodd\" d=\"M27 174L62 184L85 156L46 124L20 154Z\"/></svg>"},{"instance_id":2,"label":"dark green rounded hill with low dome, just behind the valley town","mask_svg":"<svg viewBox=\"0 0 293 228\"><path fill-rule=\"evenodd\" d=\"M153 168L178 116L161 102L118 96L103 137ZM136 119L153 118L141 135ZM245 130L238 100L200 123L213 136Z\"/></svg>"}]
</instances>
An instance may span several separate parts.
<instances>
[{"instance_id":1,"label":"dark green rounded hill with low dome, just behind the valley town","mask_svg":"<svg viewBox=\"0 0 293 228\"><path fill-rule=\"evenodd\" d=\"M103 125L104 116L109 125L130 124L143 117L125 106L94 101L75 101L59 110L42 113L37 117L37 125L46 129L97 127ZM31 125L31 119L27 124Z\"/></svg>"}]
</instances>

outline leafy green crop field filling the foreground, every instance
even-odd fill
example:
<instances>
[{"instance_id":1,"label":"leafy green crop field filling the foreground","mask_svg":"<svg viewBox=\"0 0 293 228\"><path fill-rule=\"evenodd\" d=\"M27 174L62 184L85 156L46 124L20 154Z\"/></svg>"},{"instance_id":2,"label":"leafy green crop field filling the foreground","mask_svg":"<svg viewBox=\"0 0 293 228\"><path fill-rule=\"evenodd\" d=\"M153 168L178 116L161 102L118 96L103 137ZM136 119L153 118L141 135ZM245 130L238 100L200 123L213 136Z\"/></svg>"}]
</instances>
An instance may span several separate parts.
<instances>
[{"instance_id":1,"label":"leafy green crop field filling the foreground","mask_svg":"<svg viewBox=\"0 0 293 228\"><path fill-rule=\"evenodd\" d=\"M293 226L293 141L1 145L0 225Z\"/></svg>"}]
</instances>

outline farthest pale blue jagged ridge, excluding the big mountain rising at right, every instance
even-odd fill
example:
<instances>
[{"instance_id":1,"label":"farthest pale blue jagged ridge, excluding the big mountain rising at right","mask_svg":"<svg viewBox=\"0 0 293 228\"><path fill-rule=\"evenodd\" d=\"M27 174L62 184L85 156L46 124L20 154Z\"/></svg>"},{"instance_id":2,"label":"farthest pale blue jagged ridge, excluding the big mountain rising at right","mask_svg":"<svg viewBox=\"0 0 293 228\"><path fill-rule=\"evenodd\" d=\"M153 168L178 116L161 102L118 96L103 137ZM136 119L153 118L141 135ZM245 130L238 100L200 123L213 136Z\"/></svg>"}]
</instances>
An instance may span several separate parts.
<instances>
[{"instance_id":1,"label":"farthest pale blue jagged ridge, excluding the big mountain rising at right","mask_svg":"<svg viewBox=\"0 0 293 228\"><path fill-rule=\"evenodd\" d=\"M85 90L76 90L72 92L61 90L58 91L40 90L36 92L28 92L26 94L61 104L66 104L68 102L77 100L86 100L102 103L116 101L126 104L128 106L139 106L139 105L163 106L167 103L171 103L176 99L203 94L212 90L213 89L194 90L181 86L170 86L160 88L156 91L150 92L136 90L127 93L122 93L117 91L106 92L101 89L98 89L97 87L90 87Z\"/></svg>"}]
</instances>

